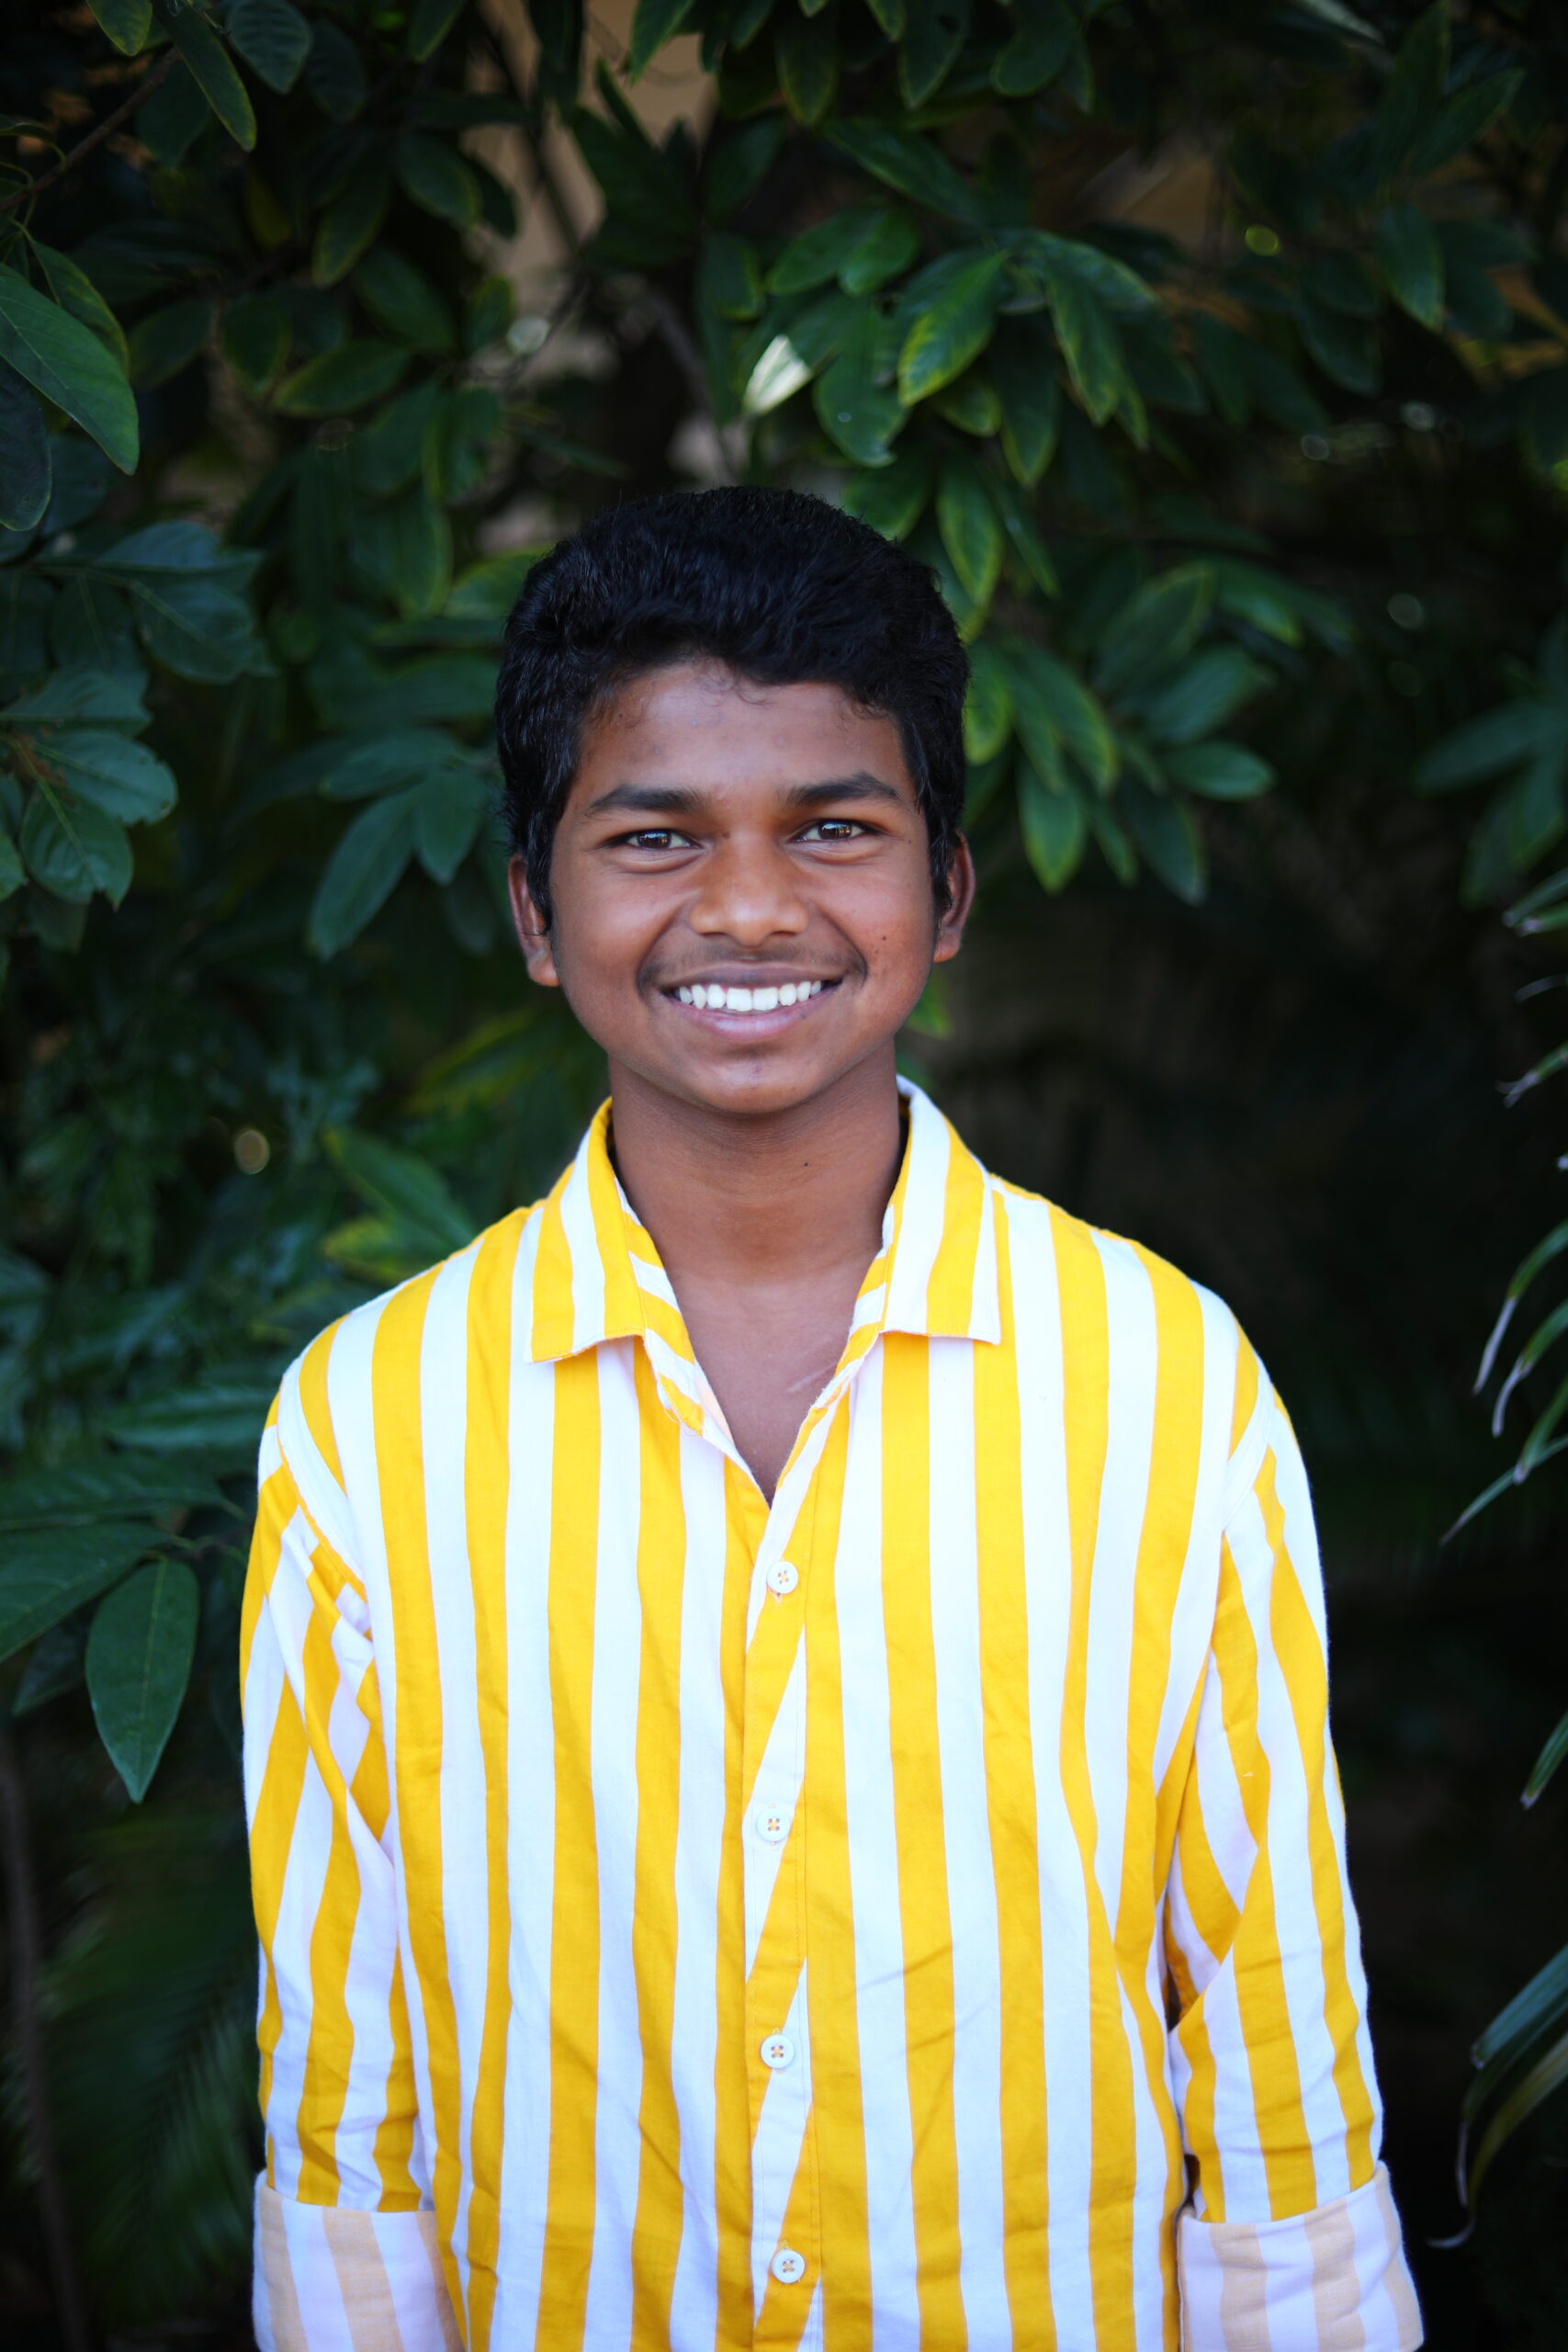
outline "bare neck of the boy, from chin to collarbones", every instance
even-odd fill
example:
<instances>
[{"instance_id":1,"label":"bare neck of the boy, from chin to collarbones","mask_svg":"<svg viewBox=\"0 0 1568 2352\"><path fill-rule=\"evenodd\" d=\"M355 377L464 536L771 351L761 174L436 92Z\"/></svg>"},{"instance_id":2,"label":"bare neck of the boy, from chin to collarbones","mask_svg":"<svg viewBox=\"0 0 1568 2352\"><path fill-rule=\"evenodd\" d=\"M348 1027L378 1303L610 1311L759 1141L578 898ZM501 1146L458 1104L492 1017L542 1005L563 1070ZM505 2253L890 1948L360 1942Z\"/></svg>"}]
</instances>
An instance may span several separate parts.
<instances>
[{"instance_id":1,"label":"bare neck of the boy, from chin to collarbones","mask_svg":"<svg viewBox=\"0 0 1568 2352\"><path fill-rule=\"evenodd\" d=\"M750 1117L611 1063L611 1105L621 1183L677 1289L795 1287L877 1256L903 1157L891 1047L813 1101Z\"/></svg>"}]
</instances>

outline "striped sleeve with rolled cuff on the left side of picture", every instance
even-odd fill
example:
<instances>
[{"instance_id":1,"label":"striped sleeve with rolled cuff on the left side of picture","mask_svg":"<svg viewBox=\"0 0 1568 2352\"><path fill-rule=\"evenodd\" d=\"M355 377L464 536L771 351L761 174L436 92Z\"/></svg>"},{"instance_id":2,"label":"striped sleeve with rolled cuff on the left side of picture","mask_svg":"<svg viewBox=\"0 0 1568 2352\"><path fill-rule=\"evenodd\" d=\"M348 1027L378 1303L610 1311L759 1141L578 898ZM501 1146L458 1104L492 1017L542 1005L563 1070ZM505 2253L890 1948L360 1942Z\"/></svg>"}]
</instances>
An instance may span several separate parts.
<instances>
[{"instance_id":1,"label":"striped sleeve with rolled cuff on the left side of picture","mask_svg":"<svg viewBox=\"0 0 1568 2352\"><path fill-rule=\"evenodd\" d=\"M458 2331L418 2133L369 1609L299 1374L282 1404L313 1482L296 1479L273 1418L242 1618L266 2119L256 2340L261 2352L437 2352Z\"/></svg>"}]
</instances>

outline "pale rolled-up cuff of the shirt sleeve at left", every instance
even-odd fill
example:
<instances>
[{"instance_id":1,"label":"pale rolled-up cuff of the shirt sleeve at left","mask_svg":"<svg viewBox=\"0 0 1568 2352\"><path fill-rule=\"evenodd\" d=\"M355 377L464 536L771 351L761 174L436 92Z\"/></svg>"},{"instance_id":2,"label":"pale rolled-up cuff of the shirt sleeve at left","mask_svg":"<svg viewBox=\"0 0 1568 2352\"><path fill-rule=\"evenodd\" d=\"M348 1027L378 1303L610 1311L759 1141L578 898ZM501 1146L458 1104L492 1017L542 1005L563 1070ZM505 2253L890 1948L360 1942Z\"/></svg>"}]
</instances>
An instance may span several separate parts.
<instances>
[{"instance_id":1,"label":"pale rolled-up cuff of the shirt sleeve at left","mask_svg":"<svg viewBox=\"0 0 1568 2352\"><path fill-rule=\"evenodd\" d=\"M256 2180L261 2352L461 2352L435 2213L308 2206Z\"/></svg>"}]
</instances>

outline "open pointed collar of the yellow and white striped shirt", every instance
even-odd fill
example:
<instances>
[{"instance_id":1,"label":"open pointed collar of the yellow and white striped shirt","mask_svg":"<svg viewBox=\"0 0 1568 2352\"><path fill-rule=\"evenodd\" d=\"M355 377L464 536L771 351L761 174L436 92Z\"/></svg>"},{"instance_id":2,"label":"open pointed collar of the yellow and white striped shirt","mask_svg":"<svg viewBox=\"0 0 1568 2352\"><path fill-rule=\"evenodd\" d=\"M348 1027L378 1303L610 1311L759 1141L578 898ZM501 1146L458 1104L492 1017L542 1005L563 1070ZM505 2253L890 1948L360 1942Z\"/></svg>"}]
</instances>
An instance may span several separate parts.
<instances>
[{"instance_id":1,"label":"open pointed collar of the yellow and white striped shirt","mask_svg":"<svg viewBox=\"0 0 1568 2352\"><path fill-rule=\"evenodd\" d=\"M907 1108L905 1155L846 1355L863 1355L882 1331L994 1345L1001 1308L992 1178L912 1080L900 1077L898 1091ZM701 1374L670 1277L609 1157L609 1103L595 1112L538 1216L531 1359L642 1338L656 1371L696 1397Z\"/></svg>"}]
</instances>

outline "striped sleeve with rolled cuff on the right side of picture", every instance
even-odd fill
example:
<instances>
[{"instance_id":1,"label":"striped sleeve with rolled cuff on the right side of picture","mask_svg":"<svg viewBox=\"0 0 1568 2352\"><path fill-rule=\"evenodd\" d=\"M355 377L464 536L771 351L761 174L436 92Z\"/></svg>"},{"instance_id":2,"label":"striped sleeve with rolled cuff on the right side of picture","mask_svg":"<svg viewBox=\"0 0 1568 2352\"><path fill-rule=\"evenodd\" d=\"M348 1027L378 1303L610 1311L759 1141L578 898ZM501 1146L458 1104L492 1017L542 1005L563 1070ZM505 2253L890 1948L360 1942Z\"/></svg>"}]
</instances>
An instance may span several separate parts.
<instances>
[{"instance_id":1,"label":"striped sleeve with rolled cuff on the right side of picture","mask_svg":"<svg viewBox=\"0 0 1568 2352\"><path fill-rule=\"evenodd\" d=\"M1265 1376L1229 1465L1166 1945L1194 2180L1178 2225L1187 2352L1410 2352L1312 1501Z\"/></svg>"}]
</instances>

